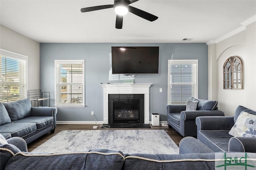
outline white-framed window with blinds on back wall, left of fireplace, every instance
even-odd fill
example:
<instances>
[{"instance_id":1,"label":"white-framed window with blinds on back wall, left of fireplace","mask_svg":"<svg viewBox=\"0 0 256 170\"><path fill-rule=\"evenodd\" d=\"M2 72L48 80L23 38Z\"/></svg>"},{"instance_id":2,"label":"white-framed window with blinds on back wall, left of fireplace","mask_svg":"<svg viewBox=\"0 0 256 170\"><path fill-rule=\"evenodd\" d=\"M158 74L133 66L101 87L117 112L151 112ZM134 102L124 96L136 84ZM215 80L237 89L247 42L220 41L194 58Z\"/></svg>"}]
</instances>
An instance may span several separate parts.
<instances>
[{"instance_id":1,"label":"white-framed window with blinds on back wall, left of fireplace","mask_svg":"<svg viewBox=\"0 0 256 170\"><path fill-rule=\"evenodd\" d=\"M55 106L84 107L84 60L55 60Z\"/></svg>"}]
</instances>

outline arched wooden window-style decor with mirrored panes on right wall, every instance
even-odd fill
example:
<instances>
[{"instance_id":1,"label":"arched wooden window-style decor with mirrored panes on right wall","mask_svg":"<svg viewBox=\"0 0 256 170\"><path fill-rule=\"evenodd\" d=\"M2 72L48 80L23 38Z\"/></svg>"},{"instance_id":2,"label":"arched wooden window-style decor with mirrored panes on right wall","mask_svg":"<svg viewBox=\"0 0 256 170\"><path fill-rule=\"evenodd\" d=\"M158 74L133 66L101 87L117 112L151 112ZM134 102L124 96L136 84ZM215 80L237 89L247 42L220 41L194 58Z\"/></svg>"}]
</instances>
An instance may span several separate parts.
<instances>
[{"instance_id":1,"label":"arched wooden window-style decor with mirrored panes on right wall","mask_svg":"<svg viewBox=\"0 0 256 170\"><path fill-rule=\"evenodd\" d=\"M223 89L243 89L243 63L238 56L229 57L223 65Z\"/></svg>"}]
</instances>

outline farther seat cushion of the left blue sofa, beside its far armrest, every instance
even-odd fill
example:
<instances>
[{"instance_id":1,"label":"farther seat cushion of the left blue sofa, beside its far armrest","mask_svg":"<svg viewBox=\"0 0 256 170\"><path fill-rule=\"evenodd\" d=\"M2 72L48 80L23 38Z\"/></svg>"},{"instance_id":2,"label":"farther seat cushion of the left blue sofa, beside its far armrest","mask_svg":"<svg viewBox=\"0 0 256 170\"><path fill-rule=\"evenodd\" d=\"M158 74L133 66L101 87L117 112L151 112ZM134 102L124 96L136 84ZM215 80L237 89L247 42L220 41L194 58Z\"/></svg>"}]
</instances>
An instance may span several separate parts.
<instances>
[{"instance_id":1,"label":"farther seat cushion of the left blue sofa, beside its far armrest","mask_svg":"<svg viewBox=\"0 0 256 170\"><path fill-rule=\"evenodd\" d=\"M30 116L14 121L14 123L36 123L36 129L42 129L53 123L53 117L51 116Z\"/></svg>"}]
</instances>

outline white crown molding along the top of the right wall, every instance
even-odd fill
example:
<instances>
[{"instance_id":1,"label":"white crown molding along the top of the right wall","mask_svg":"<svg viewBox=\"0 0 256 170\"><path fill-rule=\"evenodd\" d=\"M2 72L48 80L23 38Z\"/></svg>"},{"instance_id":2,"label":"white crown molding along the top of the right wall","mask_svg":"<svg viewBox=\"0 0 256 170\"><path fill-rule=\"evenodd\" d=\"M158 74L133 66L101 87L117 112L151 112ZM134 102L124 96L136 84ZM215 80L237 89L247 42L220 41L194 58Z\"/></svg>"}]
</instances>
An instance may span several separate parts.
<instances>
[{"instance_id":1,"label":"white crown molding along the top of the right wall","mask_svg":"<svg viewBox=\"0 0 256 170\"><path fill-rule=\"evenodd\" d=\"M219 43L220 41L223 41L229 37L232 37L233 35L236 35L237 33L240 33L241 31L244 31L246 29L246 26L255 22L256 21L256 15L252 16L251 18L248 18L247 20L241 22L240 24L242 26L238 27L237 29L234 29L233 31L217 38L216 40L210 40L210 41L207 41L206 44L207 45L211 45L211 44L216 44L216 43Z\"/></svg>"}]
</instances>

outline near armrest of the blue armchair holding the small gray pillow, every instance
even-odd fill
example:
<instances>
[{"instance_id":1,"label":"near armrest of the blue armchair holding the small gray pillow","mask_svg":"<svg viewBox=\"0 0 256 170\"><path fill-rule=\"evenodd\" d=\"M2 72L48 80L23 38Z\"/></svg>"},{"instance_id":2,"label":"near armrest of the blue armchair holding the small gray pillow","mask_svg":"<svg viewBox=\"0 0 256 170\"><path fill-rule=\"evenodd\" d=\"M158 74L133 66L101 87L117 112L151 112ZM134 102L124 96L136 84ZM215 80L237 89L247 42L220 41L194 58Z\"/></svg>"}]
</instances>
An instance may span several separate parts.
<instances>
[{"instance_id":1,"label":"near armrest of the blue armchair holding the small gray pillow","mask_svg":"<svg viewBox=\"0 0 256 170\"><path fill-rule=\"evenodd\" d=\"M223 111L220 110L195 110L180 112L180 121L196 120L199 116L224 116Z\"/></svg>"}]
</instances>

